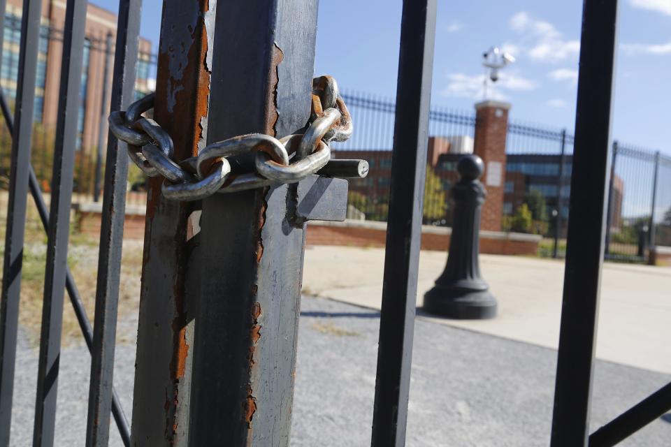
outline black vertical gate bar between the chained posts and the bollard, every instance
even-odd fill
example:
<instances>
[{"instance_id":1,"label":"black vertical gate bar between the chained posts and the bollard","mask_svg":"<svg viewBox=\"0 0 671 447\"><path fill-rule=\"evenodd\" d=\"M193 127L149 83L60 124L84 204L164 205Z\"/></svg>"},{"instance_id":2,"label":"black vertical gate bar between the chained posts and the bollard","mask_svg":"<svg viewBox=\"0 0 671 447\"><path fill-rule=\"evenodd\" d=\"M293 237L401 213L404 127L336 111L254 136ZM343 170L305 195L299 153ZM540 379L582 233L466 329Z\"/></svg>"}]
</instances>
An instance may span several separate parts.
<instances>
[{"instance_id":1,"label":"black vertical gate bar between the chained posts and the bollard","mask_svg":"<svg viewBox=\"0 0 671 447\"><path fill-rule=\"evenodd\" d=\"M405 445L435 11L435 0L403 1L371 441L375 447Z\"/></svg>"}]
</instances>

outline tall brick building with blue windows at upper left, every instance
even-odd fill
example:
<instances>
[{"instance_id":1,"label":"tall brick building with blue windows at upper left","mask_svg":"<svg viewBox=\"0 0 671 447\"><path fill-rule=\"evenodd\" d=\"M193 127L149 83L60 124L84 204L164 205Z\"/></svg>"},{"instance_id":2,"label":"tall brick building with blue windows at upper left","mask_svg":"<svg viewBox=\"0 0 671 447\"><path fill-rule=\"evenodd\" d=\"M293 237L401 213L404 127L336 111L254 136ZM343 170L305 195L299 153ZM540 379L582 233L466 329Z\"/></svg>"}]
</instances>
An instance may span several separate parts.
<instances>
[{"instance_id":1,"label":"tall brick building with blue windows at upper left","mask_svg":"<svg viewBox=\"0 0 671 447\"><path fill-rule=\"evenodd\" d=\"M62 30L65 22L65 1L43 0L37 66L34 120L45 129L56 125L58 90L61 74ZM21 30L22 1L8 0L2 51L0 85L12 101L16 95L17 67ZM106 65L106 38L115 42L117 16L91 3L87 6L85 47L82 59L82 89L79 118L78 149L91 151L98 145L103 101L103 74L108 69L108 88L112 85L113 57ZM112 52L114 48L112 48ZM152 91L152 43L140 38L137 96ZM108 96L109 98L109 96Z\"/></svg>"}]
</instances>

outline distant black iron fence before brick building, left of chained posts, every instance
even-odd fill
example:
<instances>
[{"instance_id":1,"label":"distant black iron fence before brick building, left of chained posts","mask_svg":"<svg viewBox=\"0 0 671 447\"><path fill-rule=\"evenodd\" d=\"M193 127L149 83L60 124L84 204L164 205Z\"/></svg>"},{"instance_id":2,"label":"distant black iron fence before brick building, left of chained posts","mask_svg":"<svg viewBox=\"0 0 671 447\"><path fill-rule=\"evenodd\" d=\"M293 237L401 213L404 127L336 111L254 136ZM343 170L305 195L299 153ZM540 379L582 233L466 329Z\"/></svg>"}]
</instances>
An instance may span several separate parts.
<instances>
[{"instance_id":1,"label":"distant black iron fence before brick building, left of chained posts","mask_svg":"<svg viewBox=\"0 0 671 447\"><path fill-rule=\"evenodd\" d=\"M4 41L8 43L2 52L2 70L0 86L8 99L8 106L13 112L16 98L19 66L19 44L21 36L21 17L7 12L4 15ZM60 62L64 43L64 30L41 24L38 37L38 59L36 64L36 91L34 98L34 127L32 135L31 163L36 179L45 193L50 193L51 175L53 170L53 154L56 132L55 113L46 108L53 105L58 98L58 82L48 82L48 75L58 75L59 70L50 66L50 61ZM103 149L106 145L107 122L104 117L109 110L109 90L111 88L111 69L114 62L113 39L97 34L85 34L82 47L82 74L80 103L78 104L78 120L75 139L75 171L73 193L77 201L99 199L102 183L103 166L96 168L96 163L104 164ZM155 77L157 55L140 49L136 71L135 96L143 96L153 91L152 80ZM102 98L99 100L98 98ZM98 103L102 108L96 107ZM10 171L11 135L6 127L0 127L0 206L6 208L6 191ZM131 166L129 172L129 203L140 205L145 203L145 177L139 169ZM98 193L96 194L96 184ZM49 198L49 196L47 196Z\"/></svg>"}]
</instances>

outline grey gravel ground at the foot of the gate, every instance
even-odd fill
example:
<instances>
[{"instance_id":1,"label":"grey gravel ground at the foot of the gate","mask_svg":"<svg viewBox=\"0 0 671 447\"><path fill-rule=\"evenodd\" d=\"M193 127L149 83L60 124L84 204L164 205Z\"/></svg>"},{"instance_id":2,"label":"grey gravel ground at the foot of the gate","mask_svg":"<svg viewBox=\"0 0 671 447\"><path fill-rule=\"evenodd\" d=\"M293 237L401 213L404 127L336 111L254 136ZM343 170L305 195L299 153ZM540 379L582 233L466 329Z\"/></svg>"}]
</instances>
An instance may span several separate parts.
<instances>
[{"instance_id":1,"label":"grey gravel ground at the foot of the gate","mask_svg":"<svg viewBox=\"0 0 671 447\"><path fill-rule=\"evenodd\" d=\"M136 314L120 321L115 383L131 409ZM305 298L298 343L292 446L370 445L379 314ZM57 446L83 444L89 355L62 351ZM408 446L547 446L556 351L417 320ZM12 445L31 441L37 352L22 332L17 351ZM670 381L598 361L593 429ZM128 415L130 416L130 415ZM115 428L110 445L120 446ZM671 424L656 420L623 446L671 445Z\"/></svg>"}]
</instances>

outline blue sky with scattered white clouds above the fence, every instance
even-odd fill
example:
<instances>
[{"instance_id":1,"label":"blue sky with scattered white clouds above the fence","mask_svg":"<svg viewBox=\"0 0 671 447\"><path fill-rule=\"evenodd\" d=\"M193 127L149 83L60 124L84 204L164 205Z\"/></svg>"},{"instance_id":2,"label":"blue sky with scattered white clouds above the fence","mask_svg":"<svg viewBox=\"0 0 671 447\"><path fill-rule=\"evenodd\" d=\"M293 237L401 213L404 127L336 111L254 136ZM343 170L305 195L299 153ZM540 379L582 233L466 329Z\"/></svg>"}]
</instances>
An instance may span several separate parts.
<instances>
[{"instance_id":1,"label":"blue sky with scattered white clouds above the fence","mask_svg":"<svg viewBox=\"0 0 671 447\"><path fill-rule=\"evenodd\" d=\"M154 49L161 4L143 1L141 34ZM671 0L620 4L614 138L671 155ZM517 61L489 97L512 103L514 121L572 132L581 15L579 0L438 0L432 103L473 110L483 98L482 53L499 46ZM394 98L400 24L401 0L321 0L315 73Z\"/></svg>"}]
</instances>

